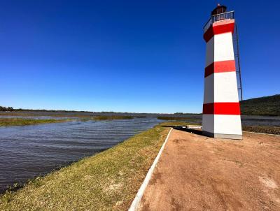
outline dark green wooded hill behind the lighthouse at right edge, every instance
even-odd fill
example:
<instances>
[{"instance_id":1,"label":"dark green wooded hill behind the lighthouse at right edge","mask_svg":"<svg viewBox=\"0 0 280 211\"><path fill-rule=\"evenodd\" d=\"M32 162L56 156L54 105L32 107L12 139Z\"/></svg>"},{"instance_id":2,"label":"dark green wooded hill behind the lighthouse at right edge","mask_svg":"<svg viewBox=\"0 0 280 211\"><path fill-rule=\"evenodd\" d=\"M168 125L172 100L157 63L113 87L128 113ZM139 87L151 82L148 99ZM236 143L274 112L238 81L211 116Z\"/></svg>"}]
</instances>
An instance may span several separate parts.
<instances>
[{"instance_id":1,"label":"dark green wooded hill behind the lighthouse at right edge","mask_svg":"<svg viewBox=\"0 0 280 211\"><path fill-rule=\"evenodd\" d=\"M240 101L242 115L280 116L280 94Z\"/></svg>"}]
</instances>

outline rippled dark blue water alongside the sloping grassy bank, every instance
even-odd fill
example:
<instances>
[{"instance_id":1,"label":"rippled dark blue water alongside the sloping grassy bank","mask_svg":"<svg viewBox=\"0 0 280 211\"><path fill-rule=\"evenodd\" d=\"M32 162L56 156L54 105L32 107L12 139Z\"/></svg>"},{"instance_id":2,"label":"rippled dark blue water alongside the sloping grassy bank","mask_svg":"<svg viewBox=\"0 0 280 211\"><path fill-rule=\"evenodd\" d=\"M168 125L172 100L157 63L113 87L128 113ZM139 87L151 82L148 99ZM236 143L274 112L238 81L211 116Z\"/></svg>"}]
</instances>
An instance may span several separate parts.
<instances>
[{"instance_id":1,"label":"rippled dark blue water alongside the sloping grassy bank","mask_svg":"<svg viewBox=\"0 0 280 211\"><path fill-rule=\"evenodd\" d=\"M106 150L159 122L155 118L0 128L0 192Z\"/></svg>"}]
</instances>

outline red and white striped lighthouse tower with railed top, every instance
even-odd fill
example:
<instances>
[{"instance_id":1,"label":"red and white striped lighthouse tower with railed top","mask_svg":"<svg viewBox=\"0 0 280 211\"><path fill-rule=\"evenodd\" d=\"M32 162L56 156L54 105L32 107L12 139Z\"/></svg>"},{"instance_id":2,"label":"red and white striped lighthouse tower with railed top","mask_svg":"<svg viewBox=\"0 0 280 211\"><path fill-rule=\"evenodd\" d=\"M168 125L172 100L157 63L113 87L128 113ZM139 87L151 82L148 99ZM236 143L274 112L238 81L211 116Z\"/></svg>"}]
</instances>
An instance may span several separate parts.
<instances>
[{"instance_id":1,"label":"red and white striped lighthouse tower with railed top","mask_svg":"<svg viewBox=\"0 0 280 211\"><path fill-rule=\"evenodd\" d=\"M242 139L235 53L232 34L234 11L226 6L212 11L204 26L206 64L202 133L213 138Z\"/></svg>"}]
</instances>

